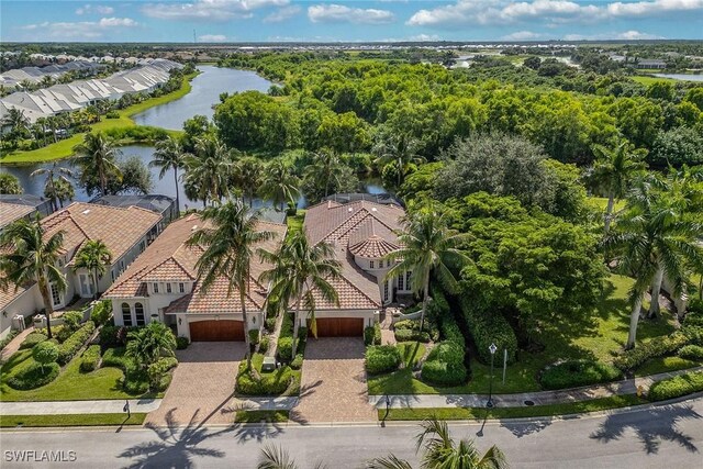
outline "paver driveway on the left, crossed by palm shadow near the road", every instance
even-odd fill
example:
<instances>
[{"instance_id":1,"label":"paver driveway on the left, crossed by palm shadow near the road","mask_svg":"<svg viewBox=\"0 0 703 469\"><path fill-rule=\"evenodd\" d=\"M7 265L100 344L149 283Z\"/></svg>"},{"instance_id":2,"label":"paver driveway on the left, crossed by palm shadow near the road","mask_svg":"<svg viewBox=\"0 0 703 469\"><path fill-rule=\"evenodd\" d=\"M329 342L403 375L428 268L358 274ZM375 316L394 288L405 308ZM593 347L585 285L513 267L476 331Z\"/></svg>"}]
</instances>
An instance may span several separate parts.
<instances>
[{"instance_id":1,"label":"paver driveway on the left, crossed by palm shadow near the road","mask_svg":"<svg viewBox=\"0 0 703 469\"><path fill-rule=\"evenodd\" d=\"M231 423L233 414L227 404L245 350L243 342L196 342L176 351L178 367L171 386L146 422L159 426L186 425L191 420Z\"/></svg>"}]
</instances>

